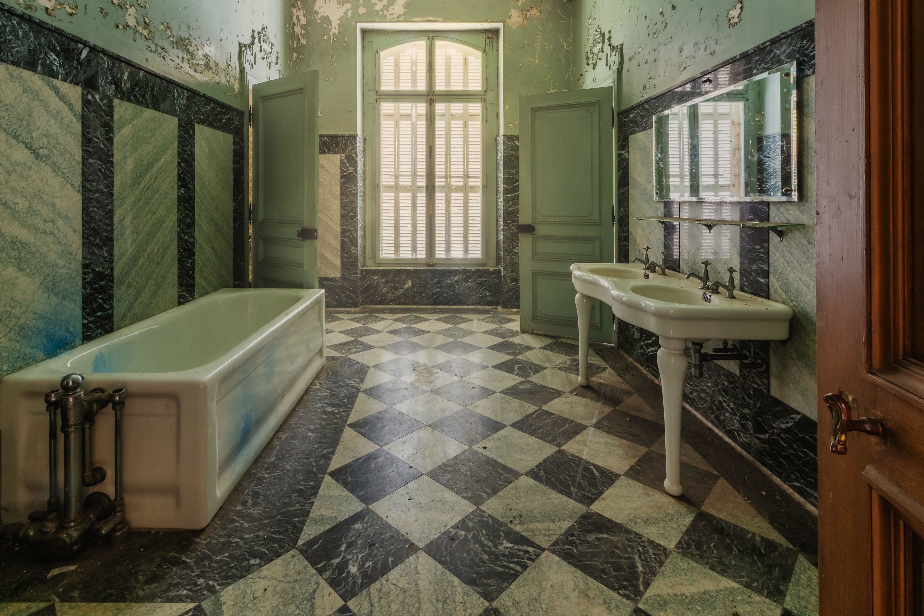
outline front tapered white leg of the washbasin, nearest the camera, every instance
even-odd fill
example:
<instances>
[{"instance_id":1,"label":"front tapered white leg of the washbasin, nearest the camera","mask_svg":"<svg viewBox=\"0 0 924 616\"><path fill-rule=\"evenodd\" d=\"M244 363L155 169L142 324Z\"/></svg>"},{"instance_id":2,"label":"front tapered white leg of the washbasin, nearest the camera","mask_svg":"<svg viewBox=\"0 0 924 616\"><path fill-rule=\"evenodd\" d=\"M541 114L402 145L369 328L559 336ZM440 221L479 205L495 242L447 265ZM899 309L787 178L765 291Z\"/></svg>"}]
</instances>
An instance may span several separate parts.
<instances>
[{"instance_id":1,"label":"front tapered white leg of the washbasin, nearest the camera","mask_svg":"<svg viewBox=\"0 0 924 616\"><path fill-rule=\"evenodd\" d=\"M664 489L668 494L680 496L680 410L683 406L684 380L687 379L687 341L676 338L660 339L658 370L661 372L661 391L664 401L664 457L667 477Z\"/></svg>"}]
</instances>

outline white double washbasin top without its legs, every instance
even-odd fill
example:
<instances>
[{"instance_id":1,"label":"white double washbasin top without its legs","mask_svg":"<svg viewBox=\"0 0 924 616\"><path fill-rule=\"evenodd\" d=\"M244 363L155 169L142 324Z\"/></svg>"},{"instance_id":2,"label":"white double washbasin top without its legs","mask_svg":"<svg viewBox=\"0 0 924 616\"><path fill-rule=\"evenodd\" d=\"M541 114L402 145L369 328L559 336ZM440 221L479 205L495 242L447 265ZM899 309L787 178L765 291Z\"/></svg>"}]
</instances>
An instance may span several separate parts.
<instances>
[{"instance_id":1,"label":"white double washbasin top without its legs","mask_svg":"<svg viewBox=\"0 0 924 616\"><path fill-rule=\"evenodd\" d=\"M613 307L614 315L659 336L686 340L784 340L792 308L735 291L711 293L683 274L648 272L640 263L575 263L578 293Z\"/></svg>"}]
</instances>

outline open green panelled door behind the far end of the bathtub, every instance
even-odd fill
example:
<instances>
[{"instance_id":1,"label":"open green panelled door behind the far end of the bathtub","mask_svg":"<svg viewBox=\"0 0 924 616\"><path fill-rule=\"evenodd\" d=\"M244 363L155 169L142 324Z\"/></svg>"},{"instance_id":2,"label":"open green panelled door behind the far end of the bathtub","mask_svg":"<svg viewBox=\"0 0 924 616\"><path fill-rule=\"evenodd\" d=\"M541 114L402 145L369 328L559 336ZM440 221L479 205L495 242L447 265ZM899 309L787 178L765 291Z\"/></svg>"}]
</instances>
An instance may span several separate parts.
<instances>
[{"instance_id":1,"label":"open green panelled door behind the far end of the bathtub","mask_svg":"<svg viewBox=\"0 0 924 616\"><path fill-rule=\"evenodd\" d=\"M318 71L253 86L253 286L318 286Z\"/></svg>"}]
</instances>

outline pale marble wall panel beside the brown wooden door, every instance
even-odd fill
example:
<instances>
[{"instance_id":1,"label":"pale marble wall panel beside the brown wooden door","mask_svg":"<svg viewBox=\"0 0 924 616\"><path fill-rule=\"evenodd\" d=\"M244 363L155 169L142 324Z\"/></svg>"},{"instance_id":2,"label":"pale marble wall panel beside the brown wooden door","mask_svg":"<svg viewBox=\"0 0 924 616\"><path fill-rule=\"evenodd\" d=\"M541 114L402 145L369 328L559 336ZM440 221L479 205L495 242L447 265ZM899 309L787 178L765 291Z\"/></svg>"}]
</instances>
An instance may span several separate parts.
<instances>
[{"instance_id":1,"label":"pale marble wall panel beside the brown wooden door","mask_svg":"<svg viewBox=\"0 0 924 616\"><path fill-rule=\"evenodd\" d=\"M793 308L789 342L770 345L770 393L817 418L815 377L815 76L799 80L799 200L771 204L770 220L803 223L770 242L770 298Z\"/></svg>"}]
</instances>

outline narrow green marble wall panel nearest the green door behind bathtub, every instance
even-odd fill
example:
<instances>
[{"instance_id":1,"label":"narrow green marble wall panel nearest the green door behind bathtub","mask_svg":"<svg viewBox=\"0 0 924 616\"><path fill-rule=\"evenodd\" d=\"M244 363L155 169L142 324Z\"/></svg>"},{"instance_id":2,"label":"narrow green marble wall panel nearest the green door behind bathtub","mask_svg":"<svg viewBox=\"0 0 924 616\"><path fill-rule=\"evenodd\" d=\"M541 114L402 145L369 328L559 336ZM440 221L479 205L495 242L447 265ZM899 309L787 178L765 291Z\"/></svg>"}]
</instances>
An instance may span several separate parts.
<instances>
[{"instance_id":1,"label":"narrow green marble wall panel nearest the green door behind bathtub","mask_svg":"<svg viewBox=\"0 0 924 616\"><path fill-rule=\"evenodd\" d=\"M232 286L234 179L229 133L196 125L196 296Z\"/></svg>"}]
</instances>

